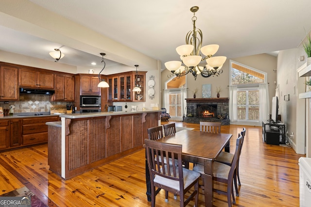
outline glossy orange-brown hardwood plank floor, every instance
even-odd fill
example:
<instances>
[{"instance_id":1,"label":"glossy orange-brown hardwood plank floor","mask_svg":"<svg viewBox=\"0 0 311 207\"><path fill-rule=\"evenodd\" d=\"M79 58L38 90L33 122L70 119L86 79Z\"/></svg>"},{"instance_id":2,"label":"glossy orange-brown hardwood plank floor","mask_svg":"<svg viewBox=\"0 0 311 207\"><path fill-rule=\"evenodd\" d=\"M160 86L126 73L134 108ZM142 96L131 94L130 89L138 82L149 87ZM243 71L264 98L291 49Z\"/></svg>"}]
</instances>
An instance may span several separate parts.
<instances>
[{"instance_id":1,"label":"glossy orange-brown hardwood plank floor","mask_svg":"<svg viewBox=\"0 0 311 207\"><path fill-rule=\"evenodd\" d=\"M162 122L167 124L168 122ZM172 123L172 122L170 122ZM176 122L176 127L198 124ZM232 133L230 150L235 148L242 126L222 126L223 133ZM292 148L262 143L261 127L246 127L246 136L240 158L239 207L298 207L299 166ZM48 206L59 207L148 207L146 198L144 149L122 159L110 162L69 180L63 180L49 171L48 145L17 149L0 153L0 194L26 186ZM179 206L169 193L156 196L157 207ZM191 201L189 206L193 206ZM200 190L199 206L204 196ZM214 206L225 207L226 196L214 194Z\"/></svg>"}]
</instances>

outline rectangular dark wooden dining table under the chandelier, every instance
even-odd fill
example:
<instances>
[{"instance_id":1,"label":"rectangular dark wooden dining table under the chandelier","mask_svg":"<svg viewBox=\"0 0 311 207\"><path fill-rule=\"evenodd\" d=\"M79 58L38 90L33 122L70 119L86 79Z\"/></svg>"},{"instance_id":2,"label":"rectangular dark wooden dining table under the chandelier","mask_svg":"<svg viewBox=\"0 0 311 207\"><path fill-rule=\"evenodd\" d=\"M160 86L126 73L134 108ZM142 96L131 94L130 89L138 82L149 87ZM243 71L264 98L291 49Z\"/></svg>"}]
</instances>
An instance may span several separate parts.
<instances>
[{"instance_id":1,"label":"rectangular dark wooden dining table under the chandelier","mask_svg":"<svg viewBox=\"0 0 311 207\"><path fill-rule=\"evenodd\" d=\"M232 134L208 133L182 130L157 140L162 143L182 144L182 159L204 165L205 206L213 206L213 163L229 142ZM148 164L146 163L147 198L151 201L151 185Z\"/></svg>"}]
</instances>

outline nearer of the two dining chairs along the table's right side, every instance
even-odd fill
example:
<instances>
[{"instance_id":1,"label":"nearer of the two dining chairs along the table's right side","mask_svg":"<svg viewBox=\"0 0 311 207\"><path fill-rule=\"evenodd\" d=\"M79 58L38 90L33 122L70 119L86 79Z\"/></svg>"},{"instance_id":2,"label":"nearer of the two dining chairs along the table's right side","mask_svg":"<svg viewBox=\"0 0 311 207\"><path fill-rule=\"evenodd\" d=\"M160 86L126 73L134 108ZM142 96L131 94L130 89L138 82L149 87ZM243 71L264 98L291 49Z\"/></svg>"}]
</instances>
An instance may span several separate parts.
<instances>
[{"instance_id":1,"label":"nearer of the two dining chairs along the table's right side","mask_svg":"<svg viewBox=\"0 0 311 207\"><path fill-rule=\"evenodd\" d=\"M241 151L243 137L239 134L237 142L236 142L236 149L233 157L233 161L231 166L226 165L220 162L214 162L213 165L213 182L221 182L227 185L227 191L223 191L220 189L214 188L213 183L213 192L221 193L227 195L228 207L232 207L232 203L235 204L235 197L233 193L233 180L236 179L236 167L238 163L239 154ZM204 165L197 164L193 167L193 171L196 171L201 174L201 178L204 181ZM204 182L203 182L204 183ZM204 189L204 186L203 186ZM233 202L231 202L231 196Z\"/></svg>"}]
</instances>

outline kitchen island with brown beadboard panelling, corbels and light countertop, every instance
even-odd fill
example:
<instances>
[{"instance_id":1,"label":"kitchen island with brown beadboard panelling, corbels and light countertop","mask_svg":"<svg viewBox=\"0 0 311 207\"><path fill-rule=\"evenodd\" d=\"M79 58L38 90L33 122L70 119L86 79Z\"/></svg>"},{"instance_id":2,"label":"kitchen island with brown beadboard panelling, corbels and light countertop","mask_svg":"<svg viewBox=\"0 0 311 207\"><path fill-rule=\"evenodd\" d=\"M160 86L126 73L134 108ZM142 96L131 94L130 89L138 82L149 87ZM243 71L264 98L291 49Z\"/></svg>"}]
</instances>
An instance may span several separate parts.
<instances>
[{"instance_id":1,"label":"kitchen island with brown beadboard panelling, corbels and light countertop","mask_svg":"<svg viewBox=\"0 0 311 207\"><path fill-rule=\"evenodd\" d=\"M48 163L64 179L138 151L161 110L61 114L48 122Z\"/></svg>"}]
</instances>

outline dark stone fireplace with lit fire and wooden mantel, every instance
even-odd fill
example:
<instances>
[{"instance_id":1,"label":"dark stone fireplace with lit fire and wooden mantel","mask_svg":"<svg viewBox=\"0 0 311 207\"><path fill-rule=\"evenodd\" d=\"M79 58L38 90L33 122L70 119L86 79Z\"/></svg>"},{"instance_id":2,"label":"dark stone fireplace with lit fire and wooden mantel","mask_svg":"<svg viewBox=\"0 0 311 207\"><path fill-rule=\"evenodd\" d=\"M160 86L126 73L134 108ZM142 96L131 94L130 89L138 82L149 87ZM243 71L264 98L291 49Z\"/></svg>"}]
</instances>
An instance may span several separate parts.
<instances>
[{"instance_id":1,"label":"dark stone fireplace with lit fire and wooden mantel","mask_svg":"<svg viewBox=\"0 0 311 207\"><path fill-rule=\"evenodd\" d=\"M186 123L199 124L200 121L221 122L229 125L229 98L186 98Z\"/></svg>"}]
</instances>

